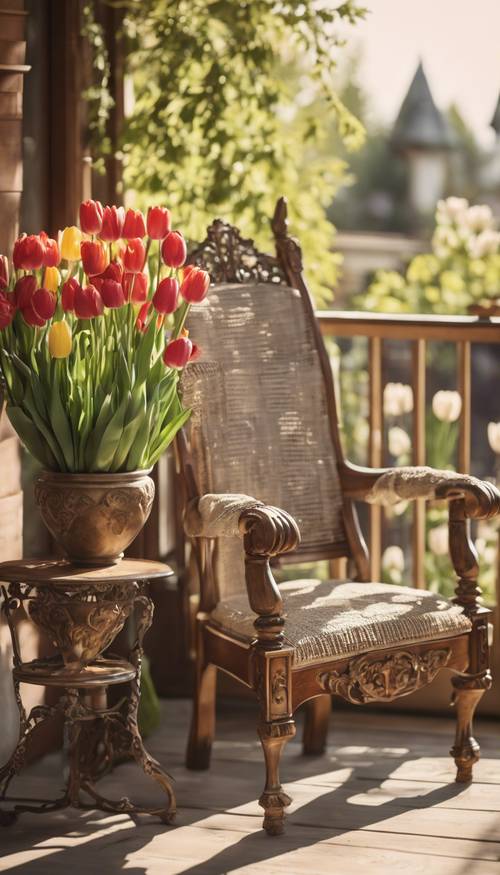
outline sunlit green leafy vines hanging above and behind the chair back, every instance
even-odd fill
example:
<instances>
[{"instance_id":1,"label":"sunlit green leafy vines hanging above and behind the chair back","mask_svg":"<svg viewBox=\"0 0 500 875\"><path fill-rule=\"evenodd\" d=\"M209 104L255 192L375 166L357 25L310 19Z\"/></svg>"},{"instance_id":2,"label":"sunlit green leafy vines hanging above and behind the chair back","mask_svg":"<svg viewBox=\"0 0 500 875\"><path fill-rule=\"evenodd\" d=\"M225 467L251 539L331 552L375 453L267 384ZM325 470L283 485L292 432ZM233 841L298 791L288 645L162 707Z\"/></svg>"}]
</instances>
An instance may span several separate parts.
<instances>
[{"instance_id":1,"label":"sunlit green leafy vines hanging above and behind the chair back","mask_svg":"<svg viewBox=\"0 0 500 875\"><path fill-rule=\"evenodd\" d=\"M269 245L286 194L313 291L331 296L338 254L326 208L344 173L328 150L336 120L359 145L362 128L334 85L341 22L355 0L123 0L135 104L121 154L136 200L166 202L192 240L217 215Z\"/></svg>"}]
</instances>

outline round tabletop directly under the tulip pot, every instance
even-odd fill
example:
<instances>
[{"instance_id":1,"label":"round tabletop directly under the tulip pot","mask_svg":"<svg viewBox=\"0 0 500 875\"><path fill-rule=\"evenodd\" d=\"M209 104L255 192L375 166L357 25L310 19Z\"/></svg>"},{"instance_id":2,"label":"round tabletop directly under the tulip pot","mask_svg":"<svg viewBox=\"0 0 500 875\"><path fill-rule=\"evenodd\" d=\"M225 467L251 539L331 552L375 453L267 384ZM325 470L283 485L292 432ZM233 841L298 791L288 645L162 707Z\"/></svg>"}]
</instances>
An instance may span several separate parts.
<instances>
[{"instance_id":1,"label":"round tabletop directly under the tulip pot","mask_svg":"<svg viewBox=\"0 0 500 875\"><path fill-rule=\"evenodd\" d=\"M74 565L66 559L20 559L0 562L0 581L5 583L50 583L96 585L130 580L155 580L171 577L173 571L163 562L147 559L122 559L116 565Z\"/></svg>"}]
</instances>

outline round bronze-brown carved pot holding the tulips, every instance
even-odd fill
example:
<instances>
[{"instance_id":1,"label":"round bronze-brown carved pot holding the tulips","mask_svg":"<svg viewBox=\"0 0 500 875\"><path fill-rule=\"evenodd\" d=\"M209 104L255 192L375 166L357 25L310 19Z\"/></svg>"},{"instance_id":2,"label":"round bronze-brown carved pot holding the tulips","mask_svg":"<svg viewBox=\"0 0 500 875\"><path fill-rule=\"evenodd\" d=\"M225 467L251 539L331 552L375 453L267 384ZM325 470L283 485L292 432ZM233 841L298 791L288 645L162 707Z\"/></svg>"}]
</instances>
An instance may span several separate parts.
<instances>
[{"instance_id":1,"label":"round bronze-brown carved pot holding the tulips","mask_svg":"<svg viewBox=\"0 0 500 875\"><path fill-rule=\"evenodd\" d=\"M42 471L35 480L35 504L68 559L114 565L151 513L155 487L148 475Z\"/></svg>"}]
</instances>

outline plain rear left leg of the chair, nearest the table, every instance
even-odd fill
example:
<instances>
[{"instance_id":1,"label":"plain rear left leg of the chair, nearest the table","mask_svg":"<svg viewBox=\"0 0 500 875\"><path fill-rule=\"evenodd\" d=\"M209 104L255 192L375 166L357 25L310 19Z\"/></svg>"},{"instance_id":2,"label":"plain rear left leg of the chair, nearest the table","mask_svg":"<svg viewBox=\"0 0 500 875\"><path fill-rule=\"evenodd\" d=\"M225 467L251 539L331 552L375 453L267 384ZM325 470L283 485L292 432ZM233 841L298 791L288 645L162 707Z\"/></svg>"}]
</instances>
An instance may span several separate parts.
<instances>
[{"instance_id":1,"label":"plain rear left leg of the chair, nearest the table","mask_svg":"<svg viewBox=\"0 0 500 875\"><path fill-rule=\"evenodd\" d=\"M208 769L215 734L215 693L217 669L204 665L197 669L193 715L186 751L188 769Z\"/></svg>"}]
</instances>

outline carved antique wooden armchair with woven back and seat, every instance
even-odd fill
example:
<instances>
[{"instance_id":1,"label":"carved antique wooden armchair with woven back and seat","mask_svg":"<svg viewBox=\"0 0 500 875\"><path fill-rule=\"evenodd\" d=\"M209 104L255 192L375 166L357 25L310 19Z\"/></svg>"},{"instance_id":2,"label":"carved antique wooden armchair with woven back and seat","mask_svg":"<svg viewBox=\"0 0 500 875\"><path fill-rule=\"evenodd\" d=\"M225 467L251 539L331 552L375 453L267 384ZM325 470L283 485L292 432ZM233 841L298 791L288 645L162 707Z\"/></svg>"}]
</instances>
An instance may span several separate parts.
<instances>
[{"instance_id":1,"label":"carved antique wooden armchair with woven back and seat","mask_svg":"<svg viewBox=\"0 0 500 875\"><path fill-rule=\"evenodd\" d=\"M203 358L183 377L193 415L178 451L201 584L187 765L209 766L221 669L258 698L266 763L259 802L264 828L278 834L290 803L279 760L295 734L294 712L308 702L304 752L319 753L331 694L387 702L450 669L457 714L451 754L457 781L471 779L479 757L472 716L491 676L489 612L479 604L469 518L497 513L500 494L449 471L369 470L344 459L329 360L284 199L272 229L276 258L222 221L191 254L213 286L189 316ZM450 502L453 603L370 582L353 502L416 497ZM352 580L278 587L276 557L280 564L347 557Z\"/></svg>"}]
</instances>

